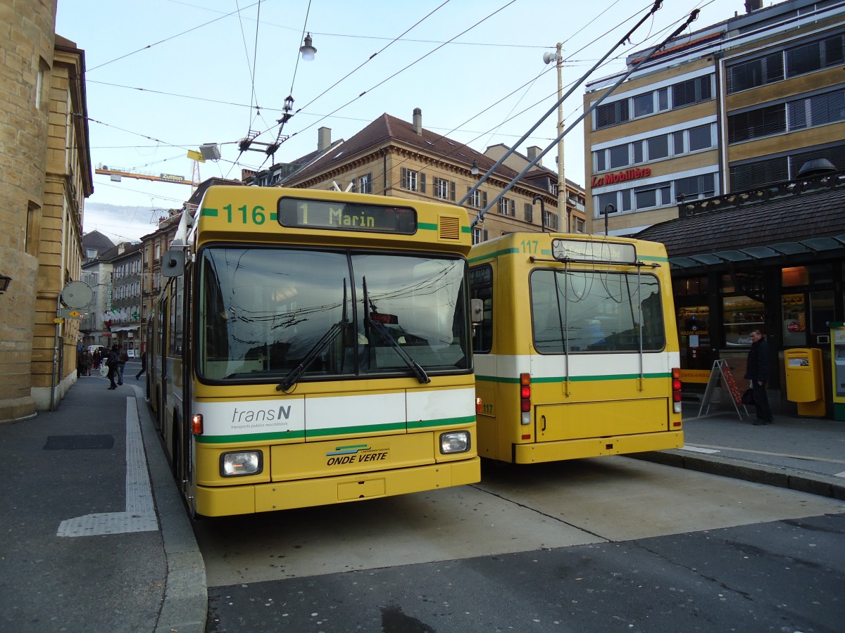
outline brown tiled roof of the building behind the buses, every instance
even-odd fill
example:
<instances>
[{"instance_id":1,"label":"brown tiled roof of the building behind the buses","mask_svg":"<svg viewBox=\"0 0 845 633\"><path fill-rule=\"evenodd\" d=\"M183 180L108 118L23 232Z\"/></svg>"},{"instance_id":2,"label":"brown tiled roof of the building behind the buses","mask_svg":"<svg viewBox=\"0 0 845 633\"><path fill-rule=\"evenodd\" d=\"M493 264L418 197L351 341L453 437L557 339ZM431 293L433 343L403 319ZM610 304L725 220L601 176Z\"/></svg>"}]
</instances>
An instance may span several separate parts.
<instances>
[{"instance_id":1,"label":"brown tiled roof of the building behind the buses","mask_svg":"<svg viewBox=\"0 0 845 633\"><path fill-rule=\"evenodd\" d=\"M433 154L455 163L464 163L467 168L472 160L478 163L478 169L483 172L493 166L494 160L441 134L435 134L423 128L422 135L414 132L412 123L402 121L395 116L383 114L369 123L352 138L344 141L339 148L326 152L318 160L292 176L293 181L303 181L308 177L330 170L334 165L344 165L350 156L366 154L388 142L402 143L420 149L427 154ZM505 165L499 165L496 175L506 181L511 181L518 172Z\"/></svg>"}]
</instances>

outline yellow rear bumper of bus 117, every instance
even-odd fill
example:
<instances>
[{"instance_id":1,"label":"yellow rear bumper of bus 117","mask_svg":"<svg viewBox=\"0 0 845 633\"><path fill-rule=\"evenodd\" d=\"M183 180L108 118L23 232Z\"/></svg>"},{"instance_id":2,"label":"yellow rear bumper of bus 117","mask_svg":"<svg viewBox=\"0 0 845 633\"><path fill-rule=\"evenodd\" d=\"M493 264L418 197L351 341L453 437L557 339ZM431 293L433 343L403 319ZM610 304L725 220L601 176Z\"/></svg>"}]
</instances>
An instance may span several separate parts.
<instances>
[{"instance_id":1,"label":"yellow rear bumper of bus 117","mask_svg":"<svg viewBox=\"0 0 845 633\"><path fill-rule=\"evenodd\" d=\"M559 462L564 459L624 455L631 452L664 451L684 446L684 431L642 433L633 436L591 437L587 440L544 441L515 444L514 463Z\"/></svg>"}]
</instances>

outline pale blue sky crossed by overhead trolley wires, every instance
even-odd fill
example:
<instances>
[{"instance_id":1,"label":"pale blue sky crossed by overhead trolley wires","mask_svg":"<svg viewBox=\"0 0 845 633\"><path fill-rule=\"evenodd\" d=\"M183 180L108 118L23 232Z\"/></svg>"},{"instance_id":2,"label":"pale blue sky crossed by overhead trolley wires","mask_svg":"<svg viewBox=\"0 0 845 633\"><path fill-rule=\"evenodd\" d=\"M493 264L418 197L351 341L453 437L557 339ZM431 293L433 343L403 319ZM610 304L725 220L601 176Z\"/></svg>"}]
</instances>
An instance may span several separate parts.
<instances>
[{"instance_id":1,"label":"pale blue sky crossed by overhead trolley wires","mask_svg":"<svg viewBox=\"0 0 845 633\"><path fill-rule=\"evenodd\" d=\"M351 138L383 113L483 152L546 149L557 137L558 80L543 62L562 42L564 127L581 115L582 75L645 15L646 0L58 0L56 32L85 51L92 170L237 178L269 167L238 141L282 142L275 162L317 149L319 127ZM771 2L765 2L769 6ZM700 8L690 30L744 13L743 0L664 0L655 16L587 82L624 69L624 58L662 41ZM310 34L313 61L299 56ZM280 129L286 97L294 115ZM281 135L281 136L280 136ZM188 150L217 143L221 160ZM261 146L255 146L263 149ZM556 149L542 165L555 169ZM581 126L564 138L564 175L584 183ZM84 230L137 241L191 187L94 174Z\"/></svg>"}]
</instances>

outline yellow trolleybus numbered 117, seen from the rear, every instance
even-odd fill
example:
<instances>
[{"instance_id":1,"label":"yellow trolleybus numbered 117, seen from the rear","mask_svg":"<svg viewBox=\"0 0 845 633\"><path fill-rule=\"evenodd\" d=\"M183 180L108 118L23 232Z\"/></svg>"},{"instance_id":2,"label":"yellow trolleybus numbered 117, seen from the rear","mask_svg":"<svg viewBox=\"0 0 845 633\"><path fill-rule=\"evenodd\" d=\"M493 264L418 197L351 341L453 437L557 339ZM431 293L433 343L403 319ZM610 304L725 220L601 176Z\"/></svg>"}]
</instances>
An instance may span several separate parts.
<instances>
[{"instance_id":1,"label":"yellow trolleybus numbered 117, seen from the rear","mask_svg":"<svg viewBox=\"0 0 845 633\"><path fill-rule=\"evenodd\" d=\"M515 233L472 247L478 454L552 462L684 445L662 244Z\"/></svg>"}]
</instances>

